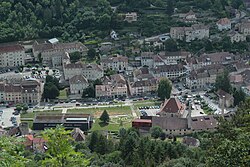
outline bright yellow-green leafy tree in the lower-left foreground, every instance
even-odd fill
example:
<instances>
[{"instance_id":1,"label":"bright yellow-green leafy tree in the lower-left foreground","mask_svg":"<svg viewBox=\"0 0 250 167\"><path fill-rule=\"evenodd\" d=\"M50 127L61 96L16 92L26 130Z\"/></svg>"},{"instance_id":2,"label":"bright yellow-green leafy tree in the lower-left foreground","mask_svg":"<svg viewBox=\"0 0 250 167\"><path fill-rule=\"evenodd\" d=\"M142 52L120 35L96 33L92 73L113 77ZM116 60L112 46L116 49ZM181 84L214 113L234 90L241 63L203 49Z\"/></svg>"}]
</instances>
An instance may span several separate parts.
<instances>
[{"instance_id":1,"label":"bright yellow-green leafy tree in the lower-left foreground","mask_svg":"<svg viewBox=\"0 0 250 167\"><path fill-rule=\"evenodd\" d=\"M75 151L70 132L65 131L62 126L45 130L43 138L47 140L49 145L45 152L46 157L42 160L44 166L66 167L87 166L89 164L89 160L84 158L83 153Z\"/></svg>"}]
</instances>

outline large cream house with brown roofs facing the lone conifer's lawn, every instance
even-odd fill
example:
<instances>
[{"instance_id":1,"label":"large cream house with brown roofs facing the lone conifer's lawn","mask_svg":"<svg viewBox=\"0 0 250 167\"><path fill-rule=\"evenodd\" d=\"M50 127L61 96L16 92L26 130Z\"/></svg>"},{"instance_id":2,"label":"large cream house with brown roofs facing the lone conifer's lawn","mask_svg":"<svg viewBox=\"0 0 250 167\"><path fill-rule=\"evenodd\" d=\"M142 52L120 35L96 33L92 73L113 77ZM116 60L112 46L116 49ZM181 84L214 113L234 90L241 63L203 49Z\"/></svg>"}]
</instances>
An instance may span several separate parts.
<instances>
[{"instance_id":1,"label":"large cream house with brown roofs facing the lone conifer's lawn","mask_svg":"<svg viewBox=\"0 0 250 167\"><path fill-rule=\"evenodd\" d=\"M102 85L95 86L97 98L127 97L128 87L125 78L120 74L105 76Z\"/></svg>"}]
</instances>

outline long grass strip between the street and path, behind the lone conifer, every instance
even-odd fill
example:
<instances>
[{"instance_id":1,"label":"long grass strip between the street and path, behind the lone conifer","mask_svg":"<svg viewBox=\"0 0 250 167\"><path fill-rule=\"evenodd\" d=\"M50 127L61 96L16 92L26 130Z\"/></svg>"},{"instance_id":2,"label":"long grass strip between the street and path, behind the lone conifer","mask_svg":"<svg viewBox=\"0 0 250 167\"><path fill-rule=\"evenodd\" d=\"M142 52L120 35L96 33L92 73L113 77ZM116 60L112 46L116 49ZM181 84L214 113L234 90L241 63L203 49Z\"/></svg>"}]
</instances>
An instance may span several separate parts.
<instances>
[{"instance_id":1,"label":"long grass strip between the street and path, behind the lone conifer","mask_svg":"<svg viewBox=\"0 0 250 167\"><path fill-rule=\"evenodd\" d=\"M131 109L129 106L119 107L97 107L97 108L81 108L81 109L68 109L67 113L84 113L93 114L94 117L100 117L102 112L107 110L109 115L131 115Z\"/></svg>"}]
</instances>

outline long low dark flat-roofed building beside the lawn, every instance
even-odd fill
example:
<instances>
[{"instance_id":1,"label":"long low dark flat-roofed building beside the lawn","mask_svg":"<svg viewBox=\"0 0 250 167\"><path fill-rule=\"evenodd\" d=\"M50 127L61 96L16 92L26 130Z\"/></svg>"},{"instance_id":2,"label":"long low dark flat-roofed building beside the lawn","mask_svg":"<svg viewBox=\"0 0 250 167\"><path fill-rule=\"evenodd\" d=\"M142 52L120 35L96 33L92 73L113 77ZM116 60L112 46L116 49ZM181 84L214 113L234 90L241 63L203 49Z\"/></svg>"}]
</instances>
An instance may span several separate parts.
<instances>
[{"instance_id":1,"label":"long low dark flat-roofed building beside the lawn","mask_svg":"<svg viewBox=\"0 0 250 167\"><path fill-rule=\"evenodd\" d=\"M91 129L93 118L89 114L49 114L36 115L33 121L34 130L44 130L62 125L65 129L80 128L82 131Z\"/></svg>"}]
</instances>

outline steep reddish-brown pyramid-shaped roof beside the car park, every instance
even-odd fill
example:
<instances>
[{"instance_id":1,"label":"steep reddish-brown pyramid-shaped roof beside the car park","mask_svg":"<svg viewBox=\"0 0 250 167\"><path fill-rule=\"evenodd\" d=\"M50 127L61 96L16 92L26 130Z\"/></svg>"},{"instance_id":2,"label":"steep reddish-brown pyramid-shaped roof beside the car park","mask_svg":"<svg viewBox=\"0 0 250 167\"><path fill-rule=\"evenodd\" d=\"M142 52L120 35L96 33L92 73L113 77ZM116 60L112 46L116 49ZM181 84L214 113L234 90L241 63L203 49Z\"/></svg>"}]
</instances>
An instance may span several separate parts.
<instances>
[{"instance_id":1,"label":"steep reddish-brown pyramid-shaped roof beside the car park","mask_svg":"<svg viewBox=\"0 0 250 167\"><path fill-rule=\"evenodd\" d=\"M160 112L165 112L165 113L180 113L185 109L185 105L182 104L177 98L171 97L163 103Z\"/></svg>"}]
</instances>

